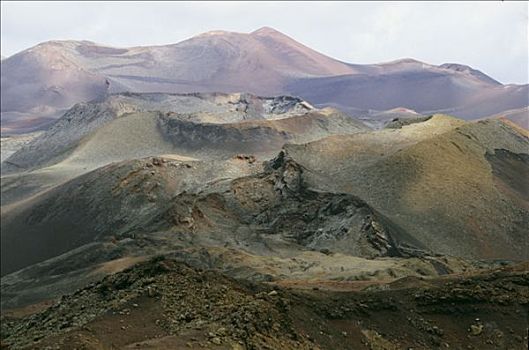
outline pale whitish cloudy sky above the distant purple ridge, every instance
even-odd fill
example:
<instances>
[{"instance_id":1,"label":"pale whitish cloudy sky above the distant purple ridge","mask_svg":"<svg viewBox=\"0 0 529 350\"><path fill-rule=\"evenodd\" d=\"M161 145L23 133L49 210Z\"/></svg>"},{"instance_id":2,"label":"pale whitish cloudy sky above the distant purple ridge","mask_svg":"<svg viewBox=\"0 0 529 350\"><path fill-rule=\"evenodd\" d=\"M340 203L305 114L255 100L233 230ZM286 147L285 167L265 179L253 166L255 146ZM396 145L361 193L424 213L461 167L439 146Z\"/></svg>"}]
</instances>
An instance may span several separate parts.
<instances>
[{"instance_id":1,"label":"pale whitish cloudy sky above the distant purple ridge","mask_svg":"<svg viewBox=\"0 0 529 350\"><path fill-rule=\"evenodd\" d=\"M1 52L40 42L172 44L210 30L277 29L333 58L461 63L529 82L527 2L1 2Z\"/></svg>"}]
</instances>

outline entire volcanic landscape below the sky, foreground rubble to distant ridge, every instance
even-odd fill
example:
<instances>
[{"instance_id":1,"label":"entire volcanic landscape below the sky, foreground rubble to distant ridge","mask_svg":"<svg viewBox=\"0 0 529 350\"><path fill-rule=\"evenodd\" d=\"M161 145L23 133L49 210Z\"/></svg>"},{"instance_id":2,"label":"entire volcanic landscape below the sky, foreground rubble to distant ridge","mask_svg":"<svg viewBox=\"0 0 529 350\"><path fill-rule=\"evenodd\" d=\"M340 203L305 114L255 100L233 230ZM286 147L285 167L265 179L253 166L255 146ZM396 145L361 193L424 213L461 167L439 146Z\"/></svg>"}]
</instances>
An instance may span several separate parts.
<instances>
[{"instance_id":1,"label":"entire volcanic landscape below the sky, foreground rubble to distant ridge","mask_svg":"<svg viewBox=\"0 0 529 350\"><path fill-rule=\"evenodd\" d=\"M2 60L0 348L523 348L526 93L270 28Z\"/></svg>"}]
</instances>

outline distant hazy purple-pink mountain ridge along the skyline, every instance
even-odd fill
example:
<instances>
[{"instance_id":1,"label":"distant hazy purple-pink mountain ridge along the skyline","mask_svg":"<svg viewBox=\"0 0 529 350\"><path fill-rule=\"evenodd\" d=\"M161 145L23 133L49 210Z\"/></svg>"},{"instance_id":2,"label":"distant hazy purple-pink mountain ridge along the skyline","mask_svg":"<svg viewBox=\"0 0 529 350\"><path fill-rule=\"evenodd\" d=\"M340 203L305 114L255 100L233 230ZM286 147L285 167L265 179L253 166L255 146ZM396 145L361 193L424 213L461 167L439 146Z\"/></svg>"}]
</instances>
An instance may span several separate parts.
<instances>
[{"instance_id":1,"label":"distant hazy purple-pink mountain ridge along the skyline","mask_svg":"<svg viewBox=\"0 0 529 350\"><path fill-rule=\"evenodd\" d=\"M349 64L268 27L164 46L49 41L2 60L1 88L7 132L38 128L77 102L123 91L289 94L351 114L406 107L466 119L529 105L528 85L502 85L465 65Z\"/></svg>"}]
</instances>

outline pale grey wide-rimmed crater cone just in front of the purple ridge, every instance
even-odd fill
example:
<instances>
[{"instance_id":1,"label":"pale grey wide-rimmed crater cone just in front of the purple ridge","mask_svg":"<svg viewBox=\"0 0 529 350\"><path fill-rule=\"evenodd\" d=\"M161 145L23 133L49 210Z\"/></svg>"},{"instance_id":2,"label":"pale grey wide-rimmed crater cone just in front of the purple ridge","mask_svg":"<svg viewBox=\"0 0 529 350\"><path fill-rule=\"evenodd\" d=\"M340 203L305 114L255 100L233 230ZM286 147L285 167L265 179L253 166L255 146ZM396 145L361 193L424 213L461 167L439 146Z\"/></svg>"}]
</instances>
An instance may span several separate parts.
<instances>
[{"instance_id":1,"label":"pale grey wide-rimmed crater cone just in front of the purple ridge","mask_svg":"<svg viewBox=\"0 0 529 350\"><path fill-rule=\"evenodd\" d=\"M9 157L2 171L61 163L95 169L162 154L229 158L245 150L271 157L285 142L369 130L337 110L294 97L250 94L117 94L81 103Z\"/></svg>"}]
</instances>

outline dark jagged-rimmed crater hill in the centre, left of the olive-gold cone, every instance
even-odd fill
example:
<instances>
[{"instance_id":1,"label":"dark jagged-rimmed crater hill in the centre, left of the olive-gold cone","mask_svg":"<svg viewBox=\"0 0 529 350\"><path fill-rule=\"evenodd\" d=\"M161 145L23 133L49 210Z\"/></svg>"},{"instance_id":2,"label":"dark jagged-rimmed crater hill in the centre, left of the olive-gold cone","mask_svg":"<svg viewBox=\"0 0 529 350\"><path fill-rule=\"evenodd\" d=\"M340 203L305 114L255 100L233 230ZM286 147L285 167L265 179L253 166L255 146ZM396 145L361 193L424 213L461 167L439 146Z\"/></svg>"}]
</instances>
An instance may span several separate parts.
<instances>
[{"instance_id":1,"label":"dark jagged-rimmed crater hill in the centre, left of the olive-gold cone","mask_svg":"<svg viewBox=\"0 0 529 350\"><path fill-rule=\"evenodd\" d=\"M361 199L306 188L302 172L283 153L264 170L251 158L212 164L154 158L98 169L4 210L2 274L86 244L155 233L184 246L260 255L425 254L419 241Z\"/></svg>"}]
</instances>

